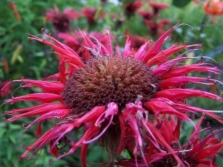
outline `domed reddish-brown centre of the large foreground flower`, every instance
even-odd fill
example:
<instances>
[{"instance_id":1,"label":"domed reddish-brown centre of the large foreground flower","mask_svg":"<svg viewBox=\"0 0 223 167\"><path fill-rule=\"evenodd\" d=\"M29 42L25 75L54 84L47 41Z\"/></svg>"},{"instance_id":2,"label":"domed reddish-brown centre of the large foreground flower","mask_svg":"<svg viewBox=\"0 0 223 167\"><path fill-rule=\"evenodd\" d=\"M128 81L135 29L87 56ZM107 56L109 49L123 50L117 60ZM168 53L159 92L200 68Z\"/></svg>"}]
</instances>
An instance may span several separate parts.
<instances>
[{"instance_id":1,"label":"domed reddish-brown centre of the large foreground flower","mask_svg":"<svg viewBox=\"0 0 223 167\"><path fill-rule=\"evenodd\" d=\"M123 109L137 99L149 100L157 92L157 84L151 69L134 58L96 57L70 75L63 100L75 113L88 112L109 102Z\"/></svg>"}]
</instances>

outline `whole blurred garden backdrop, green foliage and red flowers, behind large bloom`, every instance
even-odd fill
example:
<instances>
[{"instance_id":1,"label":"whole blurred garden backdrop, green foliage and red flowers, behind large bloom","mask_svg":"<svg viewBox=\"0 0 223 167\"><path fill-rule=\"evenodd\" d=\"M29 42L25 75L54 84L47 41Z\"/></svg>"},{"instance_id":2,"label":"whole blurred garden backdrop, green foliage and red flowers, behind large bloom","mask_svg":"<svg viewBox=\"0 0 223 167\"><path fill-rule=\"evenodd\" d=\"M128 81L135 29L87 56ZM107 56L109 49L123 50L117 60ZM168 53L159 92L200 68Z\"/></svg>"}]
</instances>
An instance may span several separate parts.
<instances>
[{"instance_id":1,"label":"whole blurred garden backdrop, green foliage and red flowers, behind large bloom","mask_svg":"<svg viewBox=\"0 0 223 167\"><path fill-rule=\"evenodd\" d=\"M216 7L217 6L217 7ZM172 39L167 42L201 43L200 51L191 54L215 59L223 62L223 1L221 0L1 0L0 1L0 103L12 95L26 94L26 91L38 92L38 89L17 89L20 85L10 83L21 77L41 79L58 71L57 57L53 51L41 43L29 41L28 34L37 35L44 28L46 33L65 42L72 48L78 48L81 54L82 41L78 38L78 29L92 33L103 42L100 32L109 28L113 38L121 44L129 36L133 49L138 49L146 40L155 41L165 30L177 22L188 26L180 26L174 31ZM124 38L123 38L124 36ZM75 37L75 38L74 38ZM123 46L121 46L123 47ZM190 55L189 55L190 56ZM192 56L192 55L191 55ZM84 58L83 58L84 59ZM210 59L207 62L214 63ZM190 63L190 62L188 62ZM218 80L223 80L222 75ZM222 86L205 87L212 93L222 94ZM221 103L193 99L189 103L212 110L222 110ZM32 106L31 103L21 102L14 107L23 108ZM0 108L0 113L12 109L8 105ZM27 121L28 122L28 121ZM222 126L211 119L213 128ZM49 164L50 156L47 149L42 150L37 157L31 160L20 160L19 156L25 150L25 145L31 144L35 138L34 132L22 132L26 122L17 121L13 124L4 123L4 115L0 117L0 165L4 167L16 164L25 166L69 166L78 167L79 152L71 157ZM204 125L206 126L206 125ZM44 125L48 128L50 125ZM185 138L192 131L189 124L183 126L181 138ZM221 132L222 133L222 132ZM78 134L77 134L78 135ZM219 137L222 138L222 134ZM75 138L75 137L74 137ZM23 144L26 143L26 144ZM59 146L64 147L64 146ZM90 148L88 154L89 166L99 166L93 162L106 161L102 148ZM218 158L219 166L223 166L222 157ZM92 163L91 163L92 162Z\"/></svg>"}]
</instances>

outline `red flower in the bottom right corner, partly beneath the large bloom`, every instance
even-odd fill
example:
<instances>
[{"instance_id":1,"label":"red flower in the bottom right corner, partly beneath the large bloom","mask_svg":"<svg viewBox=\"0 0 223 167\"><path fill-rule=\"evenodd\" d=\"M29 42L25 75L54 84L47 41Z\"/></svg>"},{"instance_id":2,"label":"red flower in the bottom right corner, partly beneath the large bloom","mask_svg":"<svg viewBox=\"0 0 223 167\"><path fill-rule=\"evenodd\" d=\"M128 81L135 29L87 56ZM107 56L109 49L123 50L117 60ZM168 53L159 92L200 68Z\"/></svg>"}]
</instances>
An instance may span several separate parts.
<instances>
[{"instance_id":1,"label":"red flower in the bottom right corner, partly beneath the large bloom","mask_svg":"<svg viewBox=\"0 0 223 167\"><path fill-rule=\"evenodd\" d=\"M153 128L151 126L150 129L151 131L156 129L160 132L160 138L170 145L185 166L217 167L215 159L217 152L223 147L223 142L214 137L219 130L213 131L204 139L201 139L200 133L208 130L208 128L200 130L203 119L204 117L199 120L189 141L184 146L181 146L179 141L181 120L176 121L173 116L170 116L169 119L167 117L158 118L155 126ZM150 167L177 166L178 164L161 142L159 145L150 143L143 151ZM122 159L115 164L123 167L135 167L134 161L134 158ZM145 167L142 158L137 159L137 161L139 167Z\"/></svg>"}]
</instances>

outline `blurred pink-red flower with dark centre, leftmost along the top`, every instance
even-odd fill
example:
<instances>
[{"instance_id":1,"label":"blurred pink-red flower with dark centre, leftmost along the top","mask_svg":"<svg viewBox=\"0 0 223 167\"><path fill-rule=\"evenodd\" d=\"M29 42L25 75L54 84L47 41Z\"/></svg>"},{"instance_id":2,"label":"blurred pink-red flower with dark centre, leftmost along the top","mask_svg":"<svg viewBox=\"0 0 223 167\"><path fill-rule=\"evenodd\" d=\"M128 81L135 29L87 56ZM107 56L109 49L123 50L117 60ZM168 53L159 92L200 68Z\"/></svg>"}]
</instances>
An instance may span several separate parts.
<instances>
[{"instance_id":1,"label":"blurred pink-red flower with dark centre, leftmost along the top","mask_svg":"<svg viewBox=\"0 0 223 167\"><path fill-rule=\"evenodd\" d=\"M63 12L60 12L57 6L55 6L54 9L46 11L47 21L52 21L55 29L59 32L67 32L69 30L70 21L78 17L79 14L72 8L66 8Z\"/></svg>"}]
</instances>

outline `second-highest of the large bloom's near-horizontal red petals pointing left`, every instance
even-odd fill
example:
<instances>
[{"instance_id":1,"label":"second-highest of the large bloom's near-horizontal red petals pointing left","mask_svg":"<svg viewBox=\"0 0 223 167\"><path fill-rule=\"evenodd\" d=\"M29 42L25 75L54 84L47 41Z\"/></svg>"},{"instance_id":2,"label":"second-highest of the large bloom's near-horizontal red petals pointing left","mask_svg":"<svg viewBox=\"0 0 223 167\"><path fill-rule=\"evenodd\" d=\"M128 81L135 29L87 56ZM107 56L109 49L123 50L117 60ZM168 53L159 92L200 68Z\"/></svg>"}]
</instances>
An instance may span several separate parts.
<instances>
[{"instance_id":1,"label":"second-highest of the large bloom's near-horizontal red petals pointing left","mask_svg":"<svg viewBox=\"0 0 223 167\"><path fill-rule=\"evenodd\" d=\"M18 101L38 101L43 103L49 103L56 100L62 100L61 95L53 93L33 93L24 96L12 97L11 99L6 100L6 103L15 103Z\"/></svg>"}]
</instances>

